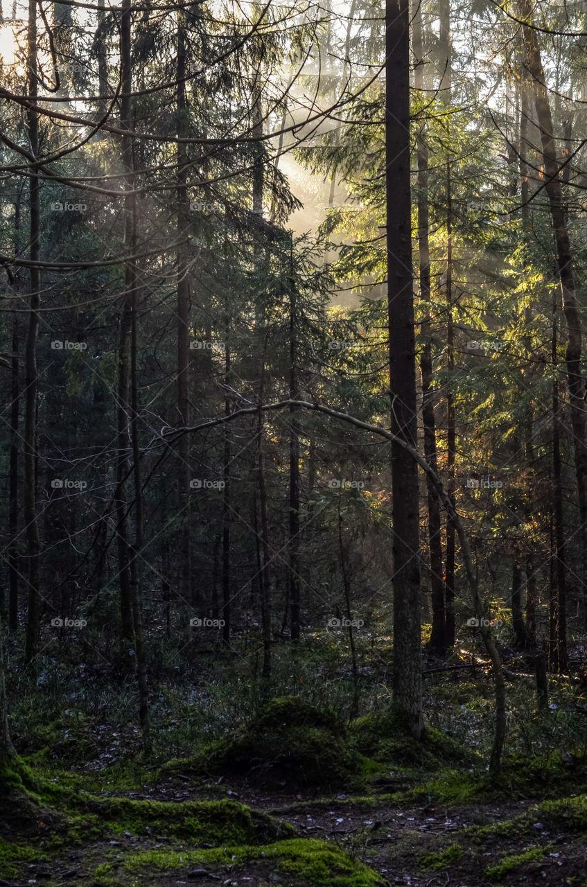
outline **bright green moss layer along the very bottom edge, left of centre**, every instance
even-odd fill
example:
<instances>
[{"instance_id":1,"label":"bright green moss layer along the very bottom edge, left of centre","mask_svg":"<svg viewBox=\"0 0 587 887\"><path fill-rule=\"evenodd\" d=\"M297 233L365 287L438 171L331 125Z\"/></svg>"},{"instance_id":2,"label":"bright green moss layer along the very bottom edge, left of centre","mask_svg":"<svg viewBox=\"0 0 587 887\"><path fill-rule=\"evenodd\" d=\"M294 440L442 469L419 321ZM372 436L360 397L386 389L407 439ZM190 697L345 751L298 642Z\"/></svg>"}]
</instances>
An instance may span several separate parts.
<instances>
[{"instance_id":1,"label":"bright green moss layer along the very bottom edge, left of centre","mask_svg":"<svg viewBox=\"0 0 587 887\"><path fill-rule=\"evenodd\" d=\"M244 865L275 867L288 883L301 887L374 887L379 875L334 844L297 838L262 847L237 846L199 852L147 851L132 853L121 860L121 868L133 875L157 871L177 872L194 866L218 866L239 869ZM102 865L95 872L99 887L109 885L112 865ZM120 883L120 882L119 882Z\"/></svg>"}]
</instances>

